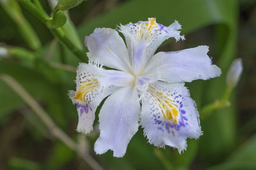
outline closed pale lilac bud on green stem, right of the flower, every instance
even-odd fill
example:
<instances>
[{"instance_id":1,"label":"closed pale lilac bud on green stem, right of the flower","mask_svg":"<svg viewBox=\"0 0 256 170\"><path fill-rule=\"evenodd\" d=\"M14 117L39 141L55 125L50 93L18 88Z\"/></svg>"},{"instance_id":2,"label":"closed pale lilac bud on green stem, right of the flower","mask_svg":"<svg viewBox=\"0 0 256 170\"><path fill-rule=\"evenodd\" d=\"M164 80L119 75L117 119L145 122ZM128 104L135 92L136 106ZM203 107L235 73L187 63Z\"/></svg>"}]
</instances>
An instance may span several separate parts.
<instances>
[{"instance_id":1,"label":"closed pale lilac bud on green stem, right of the flower","mask_svg":"<svg viewBox=\"0 0 256 170\"><path fill-rule=\"evenodd\" d=\"M243 72L242 59L236 59L232 62L227 73L227 86L236 87L238 81L240 80L241 74Z\"/></svg>"}]
</instances>

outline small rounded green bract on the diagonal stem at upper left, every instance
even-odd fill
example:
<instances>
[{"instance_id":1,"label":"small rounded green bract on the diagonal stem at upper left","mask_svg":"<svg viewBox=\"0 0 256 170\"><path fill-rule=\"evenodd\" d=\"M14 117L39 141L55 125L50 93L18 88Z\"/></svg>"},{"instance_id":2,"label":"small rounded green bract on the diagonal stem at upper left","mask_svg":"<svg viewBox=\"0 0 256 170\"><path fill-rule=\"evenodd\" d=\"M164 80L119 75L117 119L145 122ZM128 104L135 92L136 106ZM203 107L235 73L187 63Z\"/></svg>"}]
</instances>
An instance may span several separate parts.
<instances>
[{"instance_id":1,"label":"small rounded green bract on the diagonal stem at upper left","mask_svg":"<svg viewBox=\"0 0 256 170\"><path fill-rule=\"evenodd\" d=\"M47 27L56 29L67 22L67 17L63 11L54 12L54 15L46 22Z\"/></svg>"}]
</instances>

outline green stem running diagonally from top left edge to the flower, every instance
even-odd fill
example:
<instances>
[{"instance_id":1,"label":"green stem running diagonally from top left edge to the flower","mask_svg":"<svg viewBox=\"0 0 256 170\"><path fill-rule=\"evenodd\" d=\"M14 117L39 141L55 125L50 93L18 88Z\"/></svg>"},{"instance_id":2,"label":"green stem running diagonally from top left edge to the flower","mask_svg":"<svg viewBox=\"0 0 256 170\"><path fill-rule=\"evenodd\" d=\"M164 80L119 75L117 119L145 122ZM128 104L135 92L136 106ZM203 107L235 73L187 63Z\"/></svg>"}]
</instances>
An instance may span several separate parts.
<instances>
[{"instance_id":1,"label":"green stem running diagonally from top left edge to the flower","mask_svg":"<svg viewBox=\"0 0 256 170\"><path fill-rule=\"evenodd\" d=\"M29 0L18 0L20 4L22 4L25 8L27 8L33 15L35 15L39 20L41 20L45 25L46 22L49 20L49 16L45 11L38 10L36 8L35 4L31 3ZM47 25L46 25L47 26ZM60 41L61 44L67 46L67 48L76 55L77 58L80 60L83 60L84 62L88 61L88 58L86 57L83 50L79 50L70 39L67 38L63 30L59 27L57 29L50 29L52 34Z\"/></svg>"}]
</instances>

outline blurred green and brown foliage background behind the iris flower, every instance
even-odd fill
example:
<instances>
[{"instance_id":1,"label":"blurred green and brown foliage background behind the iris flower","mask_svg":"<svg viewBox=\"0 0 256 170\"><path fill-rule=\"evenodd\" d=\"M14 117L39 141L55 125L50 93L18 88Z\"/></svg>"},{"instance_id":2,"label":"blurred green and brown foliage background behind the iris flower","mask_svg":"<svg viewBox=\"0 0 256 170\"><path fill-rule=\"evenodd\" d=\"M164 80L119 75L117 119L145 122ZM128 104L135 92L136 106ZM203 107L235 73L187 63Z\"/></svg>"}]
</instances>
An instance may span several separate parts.
<instances>
[{"instance_id":1,"label":"blurred green and brown foliage background behind the iris flower","mask_svg":"<svg viewBox=\"0 0 256 170\"><path fill-rule=\"evenodd\" d=\"M87 51L83 46L84 36L95 27L115 28L120 23L148 17L156 17L163 25L178 20L186 40L176 43L170 39L158 51L208 45L214 64L223 72L220 78L187 83L199 110L221 98L230 63L237 57L243 60L243 75L230 97L231 106L214 110L201 120L204 135L198 140L188 139L187 151L179 155L170 147L156 148L147 143L140 128L123 158L113 157L110 151L95 155L93 144L99 136L97 118L93 132L88 135L76 132L76 106L67 93L75 89L73 71L81 61L58 43L26 8L19 3L15 8L6 8L4 1L0 2L0 46L8 49L8 56L0 60L0 74L12 76L55 124L81 143L104 169L256 169L255 0L88 0L68 11L67 24L72 28L66 29L77 30L78 36L68 31L67 36L84 53ZM40 2L51 15L48 1ZM20 20L28 21L40 43L31 44L29 36L33 32L20 26ZM92 169L77 152L54 138L52 129L3 80L0 80L0 127L0 169Z\"/></svg>"}]
</instances>

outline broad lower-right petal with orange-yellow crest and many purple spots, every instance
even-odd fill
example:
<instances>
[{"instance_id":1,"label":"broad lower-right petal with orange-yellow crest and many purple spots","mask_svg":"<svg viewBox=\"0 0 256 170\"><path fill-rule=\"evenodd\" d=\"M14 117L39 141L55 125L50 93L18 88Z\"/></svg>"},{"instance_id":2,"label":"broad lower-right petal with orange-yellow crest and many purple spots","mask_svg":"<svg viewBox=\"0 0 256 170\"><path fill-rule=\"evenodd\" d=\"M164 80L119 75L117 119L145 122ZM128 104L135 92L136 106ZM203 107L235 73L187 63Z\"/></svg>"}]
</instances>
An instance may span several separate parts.
<instances>
[{"instance_id":1,"label":"broad lower-right petal with orange-yellow crest and many purple spots","mask_svg":"<svg viewBox=\"0 0 256 170\"><path fill-rule=\"evenodd\" d=\"M179 152L186 150L186 138L202 134L196 104L183 83L151 83L142 100L140 123L150 143Z\"/></svg>"}]
</instances>

